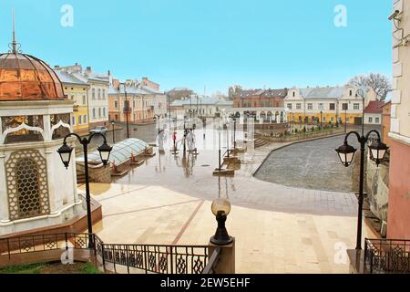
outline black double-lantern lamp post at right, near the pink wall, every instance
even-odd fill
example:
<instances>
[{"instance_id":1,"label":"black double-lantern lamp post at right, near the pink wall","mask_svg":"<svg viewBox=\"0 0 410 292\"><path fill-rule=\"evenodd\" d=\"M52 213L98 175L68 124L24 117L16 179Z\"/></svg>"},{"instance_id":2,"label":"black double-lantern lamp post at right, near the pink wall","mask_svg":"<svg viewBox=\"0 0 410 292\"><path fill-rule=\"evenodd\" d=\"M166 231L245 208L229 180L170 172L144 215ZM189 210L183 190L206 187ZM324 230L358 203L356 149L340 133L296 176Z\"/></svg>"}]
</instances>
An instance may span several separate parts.
<instances>
[{"instance_id":1,"label":"black double-lantern lamp post at right, near the pink wall","mask_svg":"<svg viewBox=\"0 0 410 292\"><path fill-rule=\"evenodd\" d=\"M352 164L354 159L354 153L356 149L347 143L347 139L350 135L354 134L357 141L360 142L360 185L359 185L359 198L358 198L358 215L357 215L357 237L356 237L356 250L362 249L362 217L363 217L363 203L364 203L364 147L369 140L371 133L376 133L378 139L369 146L370 158L377 164L377 166L383 161L385 152L388 147L380 141L380 134L376 130L369 131L365 136L362 136L357 131L351 131L344 137L344 143L338 149L336 149L339 155L340 161L345 167Z\"/></svg>"}]
</instances>

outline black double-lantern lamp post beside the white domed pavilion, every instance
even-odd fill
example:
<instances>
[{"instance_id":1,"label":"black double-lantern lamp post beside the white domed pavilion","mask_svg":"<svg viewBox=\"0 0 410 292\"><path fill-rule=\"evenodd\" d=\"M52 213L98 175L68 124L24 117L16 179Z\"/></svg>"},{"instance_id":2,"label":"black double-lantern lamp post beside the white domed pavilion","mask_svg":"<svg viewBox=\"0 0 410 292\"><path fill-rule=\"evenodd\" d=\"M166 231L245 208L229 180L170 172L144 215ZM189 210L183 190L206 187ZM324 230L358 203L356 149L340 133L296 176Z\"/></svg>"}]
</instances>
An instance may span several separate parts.
<instances>
[{"instance_id":1,"label":"black double-lantern lamp post beside the white domed pavilion","mask_svg":"<svg viewBox=\"0 0 410 292\"><path fill-rule=\"evenodd\" d=\"M104 166L107 166L108 163L108 158L109 158L109 153L112 150L112 147L108 145L106 136L101 133L93 133L91 134L88 138L81 138L78 136L76 133L70 133L64 138L63 146L61 146L57 152L60 154L61 161L63 162L64 166L68 169L68 165L71 160L71 153L73 152L73 147L70 147L67 145L67 138L71 136L77 137L78 141L83 145L83 151L84 151L84 167L85 167L85 174L86 174L86 202L87 202L87 225L88 225L88 247L92 248L94 247L94 242L93 242L93 225L92 225L92 220L91 220L91 197L89 194L89 178L88 178L88 144L91 142L94 136L102 136L104 138L104 142L101 146L97 148L99 151L99 156L101 158L101 161L103 162Z\"/></svg>"}]
</instances>

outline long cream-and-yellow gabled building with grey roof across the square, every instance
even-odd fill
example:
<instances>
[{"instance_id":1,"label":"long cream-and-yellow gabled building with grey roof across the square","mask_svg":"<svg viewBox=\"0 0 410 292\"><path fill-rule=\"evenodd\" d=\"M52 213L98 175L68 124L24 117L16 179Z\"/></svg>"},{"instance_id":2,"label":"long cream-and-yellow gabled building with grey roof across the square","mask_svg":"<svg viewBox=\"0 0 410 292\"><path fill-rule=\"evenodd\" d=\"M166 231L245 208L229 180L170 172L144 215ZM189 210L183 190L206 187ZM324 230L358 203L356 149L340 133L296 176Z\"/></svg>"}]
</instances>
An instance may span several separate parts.
<instances>
[{"instance_id":1,"label":"long cream-and-yellow gabled building with grey roof across the square","mask_svg":"<svg viewBox=\"0 0 410 292\"><path fill-rule=\"evenodd\" d=\"M376 99L373 89L362 89L364 99L360 96L359 88L346 85L343 87L289 89L283 100L288 111L288 120L315 124L347 123L362 124L363 110L370 101Z\"/></svg>"}]
</instances>

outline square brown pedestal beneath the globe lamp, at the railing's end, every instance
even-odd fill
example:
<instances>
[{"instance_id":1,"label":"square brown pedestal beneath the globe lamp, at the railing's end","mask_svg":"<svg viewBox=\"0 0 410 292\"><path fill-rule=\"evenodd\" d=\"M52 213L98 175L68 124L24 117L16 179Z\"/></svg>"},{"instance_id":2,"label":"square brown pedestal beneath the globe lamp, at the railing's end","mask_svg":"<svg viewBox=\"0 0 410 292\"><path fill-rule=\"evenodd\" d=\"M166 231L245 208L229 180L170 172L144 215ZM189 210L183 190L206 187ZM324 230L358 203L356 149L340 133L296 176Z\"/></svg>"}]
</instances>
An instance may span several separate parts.
<instances>
[{"instance_id":1,"label":"square brown pedestal beneath the globe lamp, at the railing's end","mask_svg":"<svg viewBox=\"0 0 410 292\"><path fill-rule=\"evenodd\" d=\"M219 260L214 266L215 274L235 274L235 238L230 245L208 245L208 256L213 254L216 248L220 247Z\"/></svg>"}]
</instances>

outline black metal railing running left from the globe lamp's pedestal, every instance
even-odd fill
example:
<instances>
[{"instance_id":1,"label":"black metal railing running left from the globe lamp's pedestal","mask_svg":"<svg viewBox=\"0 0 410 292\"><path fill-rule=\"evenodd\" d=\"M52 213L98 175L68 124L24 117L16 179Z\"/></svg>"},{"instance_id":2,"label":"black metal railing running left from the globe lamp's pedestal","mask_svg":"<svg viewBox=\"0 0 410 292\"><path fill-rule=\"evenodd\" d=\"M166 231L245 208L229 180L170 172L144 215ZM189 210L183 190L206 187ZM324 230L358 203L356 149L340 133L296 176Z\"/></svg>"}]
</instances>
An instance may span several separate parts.
<instances>
[{"instance_id":1,"label":"black metal railing running left from the globe lamp's pedestal","mask_svg":"<svg viewBox=\"0 0 410 292\"><path fill-rule=\"evenodd\" d=\"M217 263L218 253L210 262L207 245L112 245L105 244L95 234L58 233L47 235L22 235L0 239L0 256L47 252L52 250L88 249L94 252L97 264L104 271L111 265L128 273L136 269L156 274L211 273Z\"/></svg>"}]
</instances>

